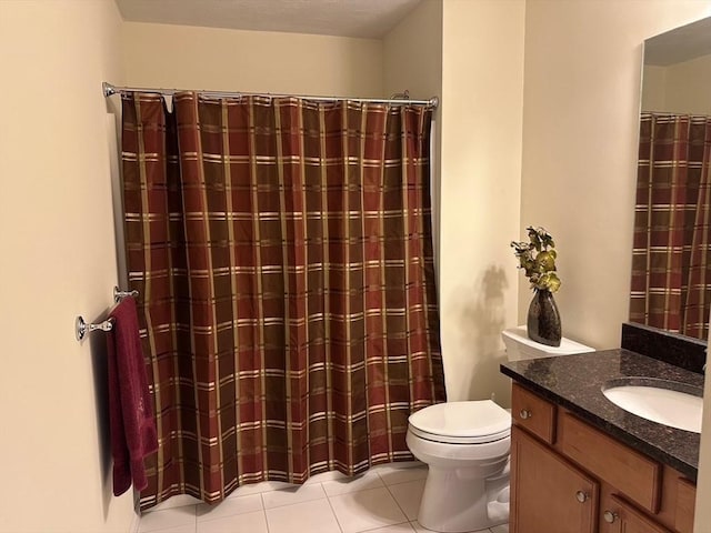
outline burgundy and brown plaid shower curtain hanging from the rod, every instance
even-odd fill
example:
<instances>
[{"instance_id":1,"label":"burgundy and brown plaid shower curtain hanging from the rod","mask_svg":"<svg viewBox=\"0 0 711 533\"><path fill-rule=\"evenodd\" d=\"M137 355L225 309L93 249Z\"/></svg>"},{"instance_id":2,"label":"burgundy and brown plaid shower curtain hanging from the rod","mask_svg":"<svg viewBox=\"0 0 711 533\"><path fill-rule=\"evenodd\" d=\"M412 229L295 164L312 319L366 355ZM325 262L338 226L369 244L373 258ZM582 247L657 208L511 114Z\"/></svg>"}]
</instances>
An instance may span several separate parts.
<instances>
[{"instance_id":1,"label":"burgundy and brown plaid shower curtain hanging from the rod","mask_svg":"<svg viewBox=\"0 0 711 533\"><path fill-rule=\"evenodd\" d=\"M444 400L431 109L123 95L129 283L159 451L141 507L411 460Z\"/></svg>"}]
</instances>

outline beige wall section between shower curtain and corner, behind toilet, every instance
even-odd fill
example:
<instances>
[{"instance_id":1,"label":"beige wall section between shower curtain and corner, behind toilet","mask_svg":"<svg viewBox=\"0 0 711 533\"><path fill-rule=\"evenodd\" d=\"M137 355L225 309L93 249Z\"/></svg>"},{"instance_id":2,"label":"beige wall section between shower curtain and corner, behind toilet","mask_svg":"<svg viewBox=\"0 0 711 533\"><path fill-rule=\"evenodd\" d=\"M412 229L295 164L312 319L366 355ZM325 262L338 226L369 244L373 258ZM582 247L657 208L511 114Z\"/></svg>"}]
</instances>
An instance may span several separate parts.
<instances>
[{"instance_id":1,"label":"beige wall section between shower curtain and corner, behind toilet","mask_svg":"<svg viewBox=\"0 0 711 533\"><path fill-rule=\"evenodd\" d=\"M523 0L444 0L440 313L450 400L509 403L501 330L517 325Z\"/></svg>"}]
</instances>

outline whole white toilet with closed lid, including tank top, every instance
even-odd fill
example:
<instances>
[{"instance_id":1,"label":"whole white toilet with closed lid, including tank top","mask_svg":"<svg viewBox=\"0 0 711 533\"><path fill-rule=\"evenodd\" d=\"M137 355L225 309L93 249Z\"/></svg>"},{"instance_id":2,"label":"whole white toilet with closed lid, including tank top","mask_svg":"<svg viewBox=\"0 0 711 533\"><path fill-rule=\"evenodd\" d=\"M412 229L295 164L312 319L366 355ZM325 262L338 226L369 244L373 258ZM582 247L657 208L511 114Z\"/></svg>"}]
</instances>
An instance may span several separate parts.
<instances>
[{"instance_id":1,"label":"whole white toilet with closed lid, including tank top","mask_svg":"<svg viewBox=\"0 0 711 533\"><path fill-rule=\"evenodd\" d=\"M547 346L525 326L501 333L510 360L592 352L570 339ZM511 415L492 400L430 405L409 419L408 447L429 466L418 522L428 530L462 533L509 521Z\"/></svg>"}]
</instances>

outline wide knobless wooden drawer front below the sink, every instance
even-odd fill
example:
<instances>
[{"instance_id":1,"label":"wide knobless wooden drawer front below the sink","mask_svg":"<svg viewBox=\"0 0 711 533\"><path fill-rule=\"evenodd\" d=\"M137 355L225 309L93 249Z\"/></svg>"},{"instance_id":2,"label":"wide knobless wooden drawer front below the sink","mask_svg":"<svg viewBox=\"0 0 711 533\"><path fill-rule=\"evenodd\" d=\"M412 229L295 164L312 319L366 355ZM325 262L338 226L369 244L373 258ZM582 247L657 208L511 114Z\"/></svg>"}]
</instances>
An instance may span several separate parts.
<instances>
[{"instance_id":1,"label":"wide knobless wooden drawer front below the sink","mask_svg":"<svg viewBox=\"0 0 711 533\"><path fill-rule=\"evenodd\" d=\"M568 412L563 412L559 420L558 443L563 455L617 487L631 501L652 513L659 511L659 463Z\"/></svg>"}]
</instances>

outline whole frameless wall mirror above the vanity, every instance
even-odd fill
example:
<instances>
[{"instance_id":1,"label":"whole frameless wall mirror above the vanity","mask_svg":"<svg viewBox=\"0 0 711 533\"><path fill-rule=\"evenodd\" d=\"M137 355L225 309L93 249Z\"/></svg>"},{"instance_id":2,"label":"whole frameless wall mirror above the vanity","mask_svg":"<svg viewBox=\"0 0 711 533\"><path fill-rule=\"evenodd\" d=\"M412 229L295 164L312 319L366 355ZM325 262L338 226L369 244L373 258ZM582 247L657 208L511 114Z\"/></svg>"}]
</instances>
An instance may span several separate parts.
<instances>
[{"instance_id":1,"label":"whole frameless wall mirror above the vanity","mask_svg":"<svg viewBox=\"0 0 711 533\"><path fill-rule=\"evenodd\" d=\"M644 41L630 321L707 340L711 17Z\"/></svg>"}]
</instances>

